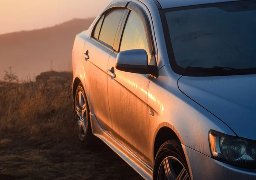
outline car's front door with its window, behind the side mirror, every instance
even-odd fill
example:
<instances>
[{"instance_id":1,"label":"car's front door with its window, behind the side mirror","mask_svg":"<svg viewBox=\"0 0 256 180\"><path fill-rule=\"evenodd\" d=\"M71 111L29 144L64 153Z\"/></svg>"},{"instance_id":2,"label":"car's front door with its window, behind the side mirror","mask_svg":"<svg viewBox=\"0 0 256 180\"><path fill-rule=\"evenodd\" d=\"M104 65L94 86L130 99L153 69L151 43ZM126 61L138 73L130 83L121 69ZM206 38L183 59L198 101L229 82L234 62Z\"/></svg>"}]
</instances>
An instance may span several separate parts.
<instances>
[{"instance_id":1,"label":"car's front door with its window, behind the side mirror","mask_svg":"<svg viewBox=\"0 0 256 180\"><path fill-rule=\"evenodd\" d=\"M108 62L108 70L114 74L108 77L113 134L128 149L149 163L147 92L151 77L148 74L134 74L115 68L118 51L145 49L148 58L151 58L143 23L133 11L128 11L124 30L120 34L120 47L111 54Z\"/></svg>"}]
</instances>

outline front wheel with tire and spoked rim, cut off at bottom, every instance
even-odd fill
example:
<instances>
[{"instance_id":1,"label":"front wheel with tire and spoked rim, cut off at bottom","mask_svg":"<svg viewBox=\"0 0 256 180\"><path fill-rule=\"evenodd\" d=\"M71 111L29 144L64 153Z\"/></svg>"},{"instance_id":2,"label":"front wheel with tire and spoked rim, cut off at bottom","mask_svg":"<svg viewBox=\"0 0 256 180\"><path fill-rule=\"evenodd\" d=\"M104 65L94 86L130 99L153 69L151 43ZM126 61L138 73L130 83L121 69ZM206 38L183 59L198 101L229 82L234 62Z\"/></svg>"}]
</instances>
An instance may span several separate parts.
<instances>
[{"instance_id":1,"label":"front wheel with tire and spoked rim, cut off at bottom","mask_svg":"<svg viewBox=\"0 0 256 180\"><path fill-rule=\"evenodd\" d=\"M186 158L178 140L168 140L157 151L153 180L191 180Z\"/></svg>"}]
</instances>

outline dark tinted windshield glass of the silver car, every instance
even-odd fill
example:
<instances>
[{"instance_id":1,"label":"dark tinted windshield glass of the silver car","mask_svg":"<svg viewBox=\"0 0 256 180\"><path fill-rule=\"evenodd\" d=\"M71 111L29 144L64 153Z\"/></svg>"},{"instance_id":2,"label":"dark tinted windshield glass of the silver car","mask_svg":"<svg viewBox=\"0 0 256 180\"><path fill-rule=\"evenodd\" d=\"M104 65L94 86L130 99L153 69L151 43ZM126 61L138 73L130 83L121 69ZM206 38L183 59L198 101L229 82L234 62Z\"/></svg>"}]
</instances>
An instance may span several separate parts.
<instances>
[{"instance_id":1,"label":"dark tinted windshield glass of the silver car","mask_svg":"<svg viewBox=\"0 0 256 180\"><path fill-rule=\"evenodd\" d=\"M182 69L256 69L255 0L167 9L163 16L168 51Z\"/></svg>"}]
</instances>

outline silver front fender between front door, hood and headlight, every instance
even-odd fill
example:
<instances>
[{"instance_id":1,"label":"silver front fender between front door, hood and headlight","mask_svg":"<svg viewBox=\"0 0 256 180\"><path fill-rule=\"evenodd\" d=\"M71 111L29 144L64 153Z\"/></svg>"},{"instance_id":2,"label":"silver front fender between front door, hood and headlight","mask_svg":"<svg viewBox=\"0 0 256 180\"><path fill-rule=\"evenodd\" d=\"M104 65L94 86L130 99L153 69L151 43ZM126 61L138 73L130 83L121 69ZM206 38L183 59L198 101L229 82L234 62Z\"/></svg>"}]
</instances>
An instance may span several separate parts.
<instances>
[{"instance_id":1,"label":"silver front fender between front door, hood and headlight","mask_svg":"<svg viewBox=\"0 0 256 180\"><path fill-rule=\"evenodd\" d=\"M154 119L149 119L151 142L157 129L165 123L179 137L183 145L211 156L209 130L236 135L221 120L191 100L178 89L178 78L170 66L159 71L159 77L151 80L148 88L148 106L154 111ZM166 125L165 125L166 126Z\"/></svg>"}]
</instances>

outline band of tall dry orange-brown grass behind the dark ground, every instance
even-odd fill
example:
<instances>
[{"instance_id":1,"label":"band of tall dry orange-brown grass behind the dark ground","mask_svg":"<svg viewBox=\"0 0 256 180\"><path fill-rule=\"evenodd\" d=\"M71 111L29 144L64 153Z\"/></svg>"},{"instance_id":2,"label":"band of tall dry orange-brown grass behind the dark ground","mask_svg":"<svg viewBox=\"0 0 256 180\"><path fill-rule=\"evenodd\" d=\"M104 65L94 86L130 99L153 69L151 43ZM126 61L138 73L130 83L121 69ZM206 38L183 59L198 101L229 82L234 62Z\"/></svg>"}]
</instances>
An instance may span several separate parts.
<instances>
[{"instance_id":1,"label":"band of tall dry orange-brown grass behind the dark ground","mask_svg":"<svg viewBox=\"0 0 256 180\"><path fill-rule=\"evenodd\" d=\"M0 135L70 137L74 125L72 73L49 71L37 82L0 83Z\"/></svg>"}]
</instances>

